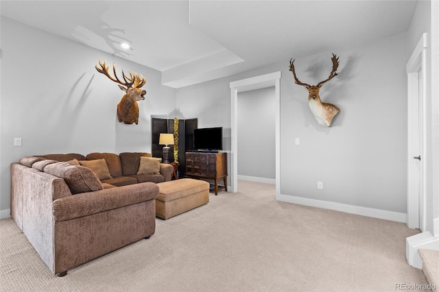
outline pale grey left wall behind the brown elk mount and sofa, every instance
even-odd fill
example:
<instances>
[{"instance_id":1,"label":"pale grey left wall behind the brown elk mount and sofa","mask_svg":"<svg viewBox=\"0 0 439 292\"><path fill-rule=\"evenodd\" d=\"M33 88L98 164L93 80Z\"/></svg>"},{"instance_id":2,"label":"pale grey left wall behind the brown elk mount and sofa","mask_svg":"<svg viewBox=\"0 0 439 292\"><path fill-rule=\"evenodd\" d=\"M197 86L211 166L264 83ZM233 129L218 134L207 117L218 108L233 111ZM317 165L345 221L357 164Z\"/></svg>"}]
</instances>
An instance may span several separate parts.
<instances>
[{"instance_id":1,"label":"pale grey left wall behind the brown elk mount and sofa","mask_svg":"<svg viewBox=\"0 0 439 292\"><path fill-rule=\"evenodd\" d=\"M4 17L1 40L1 217L10 208L11 162L37 154L151 151L151 114L175 109L175 89L162 86L154 69ZM117 121L123 91L96 71L99 59L145 77L139 125ZM13 146L14 137L22 147Z\"/></svg>"}]
</instances>

